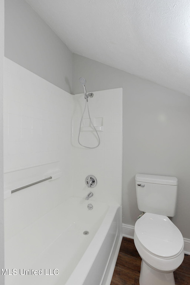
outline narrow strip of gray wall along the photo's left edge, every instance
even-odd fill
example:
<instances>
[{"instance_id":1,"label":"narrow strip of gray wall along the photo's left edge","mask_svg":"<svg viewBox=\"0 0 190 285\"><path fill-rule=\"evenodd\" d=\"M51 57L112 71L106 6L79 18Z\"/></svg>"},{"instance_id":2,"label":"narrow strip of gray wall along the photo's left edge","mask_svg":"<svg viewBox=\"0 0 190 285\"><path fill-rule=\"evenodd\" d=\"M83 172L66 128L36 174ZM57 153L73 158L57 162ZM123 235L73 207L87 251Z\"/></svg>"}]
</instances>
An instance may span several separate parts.
<instances>
[{"instance_id":1,"label":"narrow strip of gray wall along the photo's left edge","mask_svg":"<svg viewBox=\"0 0 190 285\"><path fill-rule=\"evenodd\" d=\"M0 0L0 268L4 268L3 61L4 61L4 0ZM1 274L0 274L0 284L4 285L4 276Z\"/></svg>"}]
</instances>

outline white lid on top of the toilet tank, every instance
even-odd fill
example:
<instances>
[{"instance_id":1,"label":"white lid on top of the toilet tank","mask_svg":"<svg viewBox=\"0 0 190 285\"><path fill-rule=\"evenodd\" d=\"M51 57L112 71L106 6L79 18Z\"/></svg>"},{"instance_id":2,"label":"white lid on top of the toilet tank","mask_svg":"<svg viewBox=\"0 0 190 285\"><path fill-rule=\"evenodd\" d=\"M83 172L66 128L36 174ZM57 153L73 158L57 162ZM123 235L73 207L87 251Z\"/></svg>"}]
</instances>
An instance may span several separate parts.
<instances>
[{"instance_id":1,"label":"white lid on top of the toilet tank","mask_svg":"<svg viewBox=\"0 0 190 285\"><path fill-rule=\"evenodd\" d=\"M150 174L136 174L135 180L138 182L164 184L164 185L178 185L178 179L172 176L150 175Z\"/></svg>"}]
</instances>

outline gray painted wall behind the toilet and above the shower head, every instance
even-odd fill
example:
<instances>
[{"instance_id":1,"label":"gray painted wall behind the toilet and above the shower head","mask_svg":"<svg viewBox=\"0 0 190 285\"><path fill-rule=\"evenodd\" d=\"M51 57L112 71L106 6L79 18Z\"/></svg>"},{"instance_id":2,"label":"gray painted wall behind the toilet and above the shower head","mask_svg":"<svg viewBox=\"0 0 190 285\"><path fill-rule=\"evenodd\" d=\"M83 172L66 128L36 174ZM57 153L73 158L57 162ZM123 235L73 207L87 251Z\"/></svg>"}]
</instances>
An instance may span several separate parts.
<instances>
[{"instance_id":1,"label":"gray painted wall behind the toilet and above the shower head","mask_svg":"<svg viewBox=\"0 0 190 285\"><path fill-rule=\"evenodd\" d=\"M123 88L123 223L134 225L137 208L135 174L178 178L177 211L172 221L184 238L189 228L190 97L127 72L73 54L73 94Z\"/></svg>"}]
</instances>

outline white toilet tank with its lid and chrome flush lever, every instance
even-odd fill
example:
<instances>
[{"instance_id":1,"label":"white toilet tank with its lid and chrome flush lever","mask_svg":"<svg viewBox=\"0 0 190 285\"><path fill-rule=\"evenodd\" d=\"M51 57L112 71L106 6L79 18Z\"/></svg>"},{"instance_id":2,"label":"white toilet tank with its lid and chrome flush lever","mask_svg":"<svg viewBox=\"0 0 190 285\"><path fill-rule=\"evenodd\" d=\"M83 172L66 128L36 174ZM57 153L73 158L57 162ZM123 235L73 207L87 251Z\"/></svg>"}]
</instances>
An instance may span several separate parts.
<instances>
[{"instance_id":1,"label":"white toilet tank with its lid and chrome flush lever","mask_svg":"<svg viewBox=\"0 0 190 285\"><path fill-rule=\"evenodd\" d=\"M136 174L138 208L142 212L175 216L178 179L170 176Z\"/></svg>"}]
</instances>

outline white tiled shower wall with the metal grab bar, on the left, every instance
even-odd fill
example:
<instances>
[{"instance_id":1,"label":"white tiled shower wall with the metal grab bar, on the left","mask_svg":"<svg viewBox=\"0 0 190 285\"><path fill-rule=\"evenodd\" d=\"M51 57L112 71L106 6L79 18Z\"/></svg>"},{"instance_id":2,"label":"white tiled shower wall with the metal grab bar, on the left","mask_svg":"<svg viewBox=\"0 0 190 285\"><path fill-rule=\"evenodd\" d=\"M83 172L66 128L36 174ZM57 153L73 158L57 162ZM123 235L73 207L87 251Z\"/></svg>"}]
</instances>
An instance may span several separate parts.
<instances>
[{"instance_id":1,"label":"white tiled shower wall with the metal grab bar, on the left","mask_svg":"<svg viewBox=\"0 0 190 285\"><path fill-rule=\"evenodd\" d=\"M5 200L6 238L70 195L72 111L71 94L4 58L4 188L61 173Z\"/></svg>"}]
</instances>

